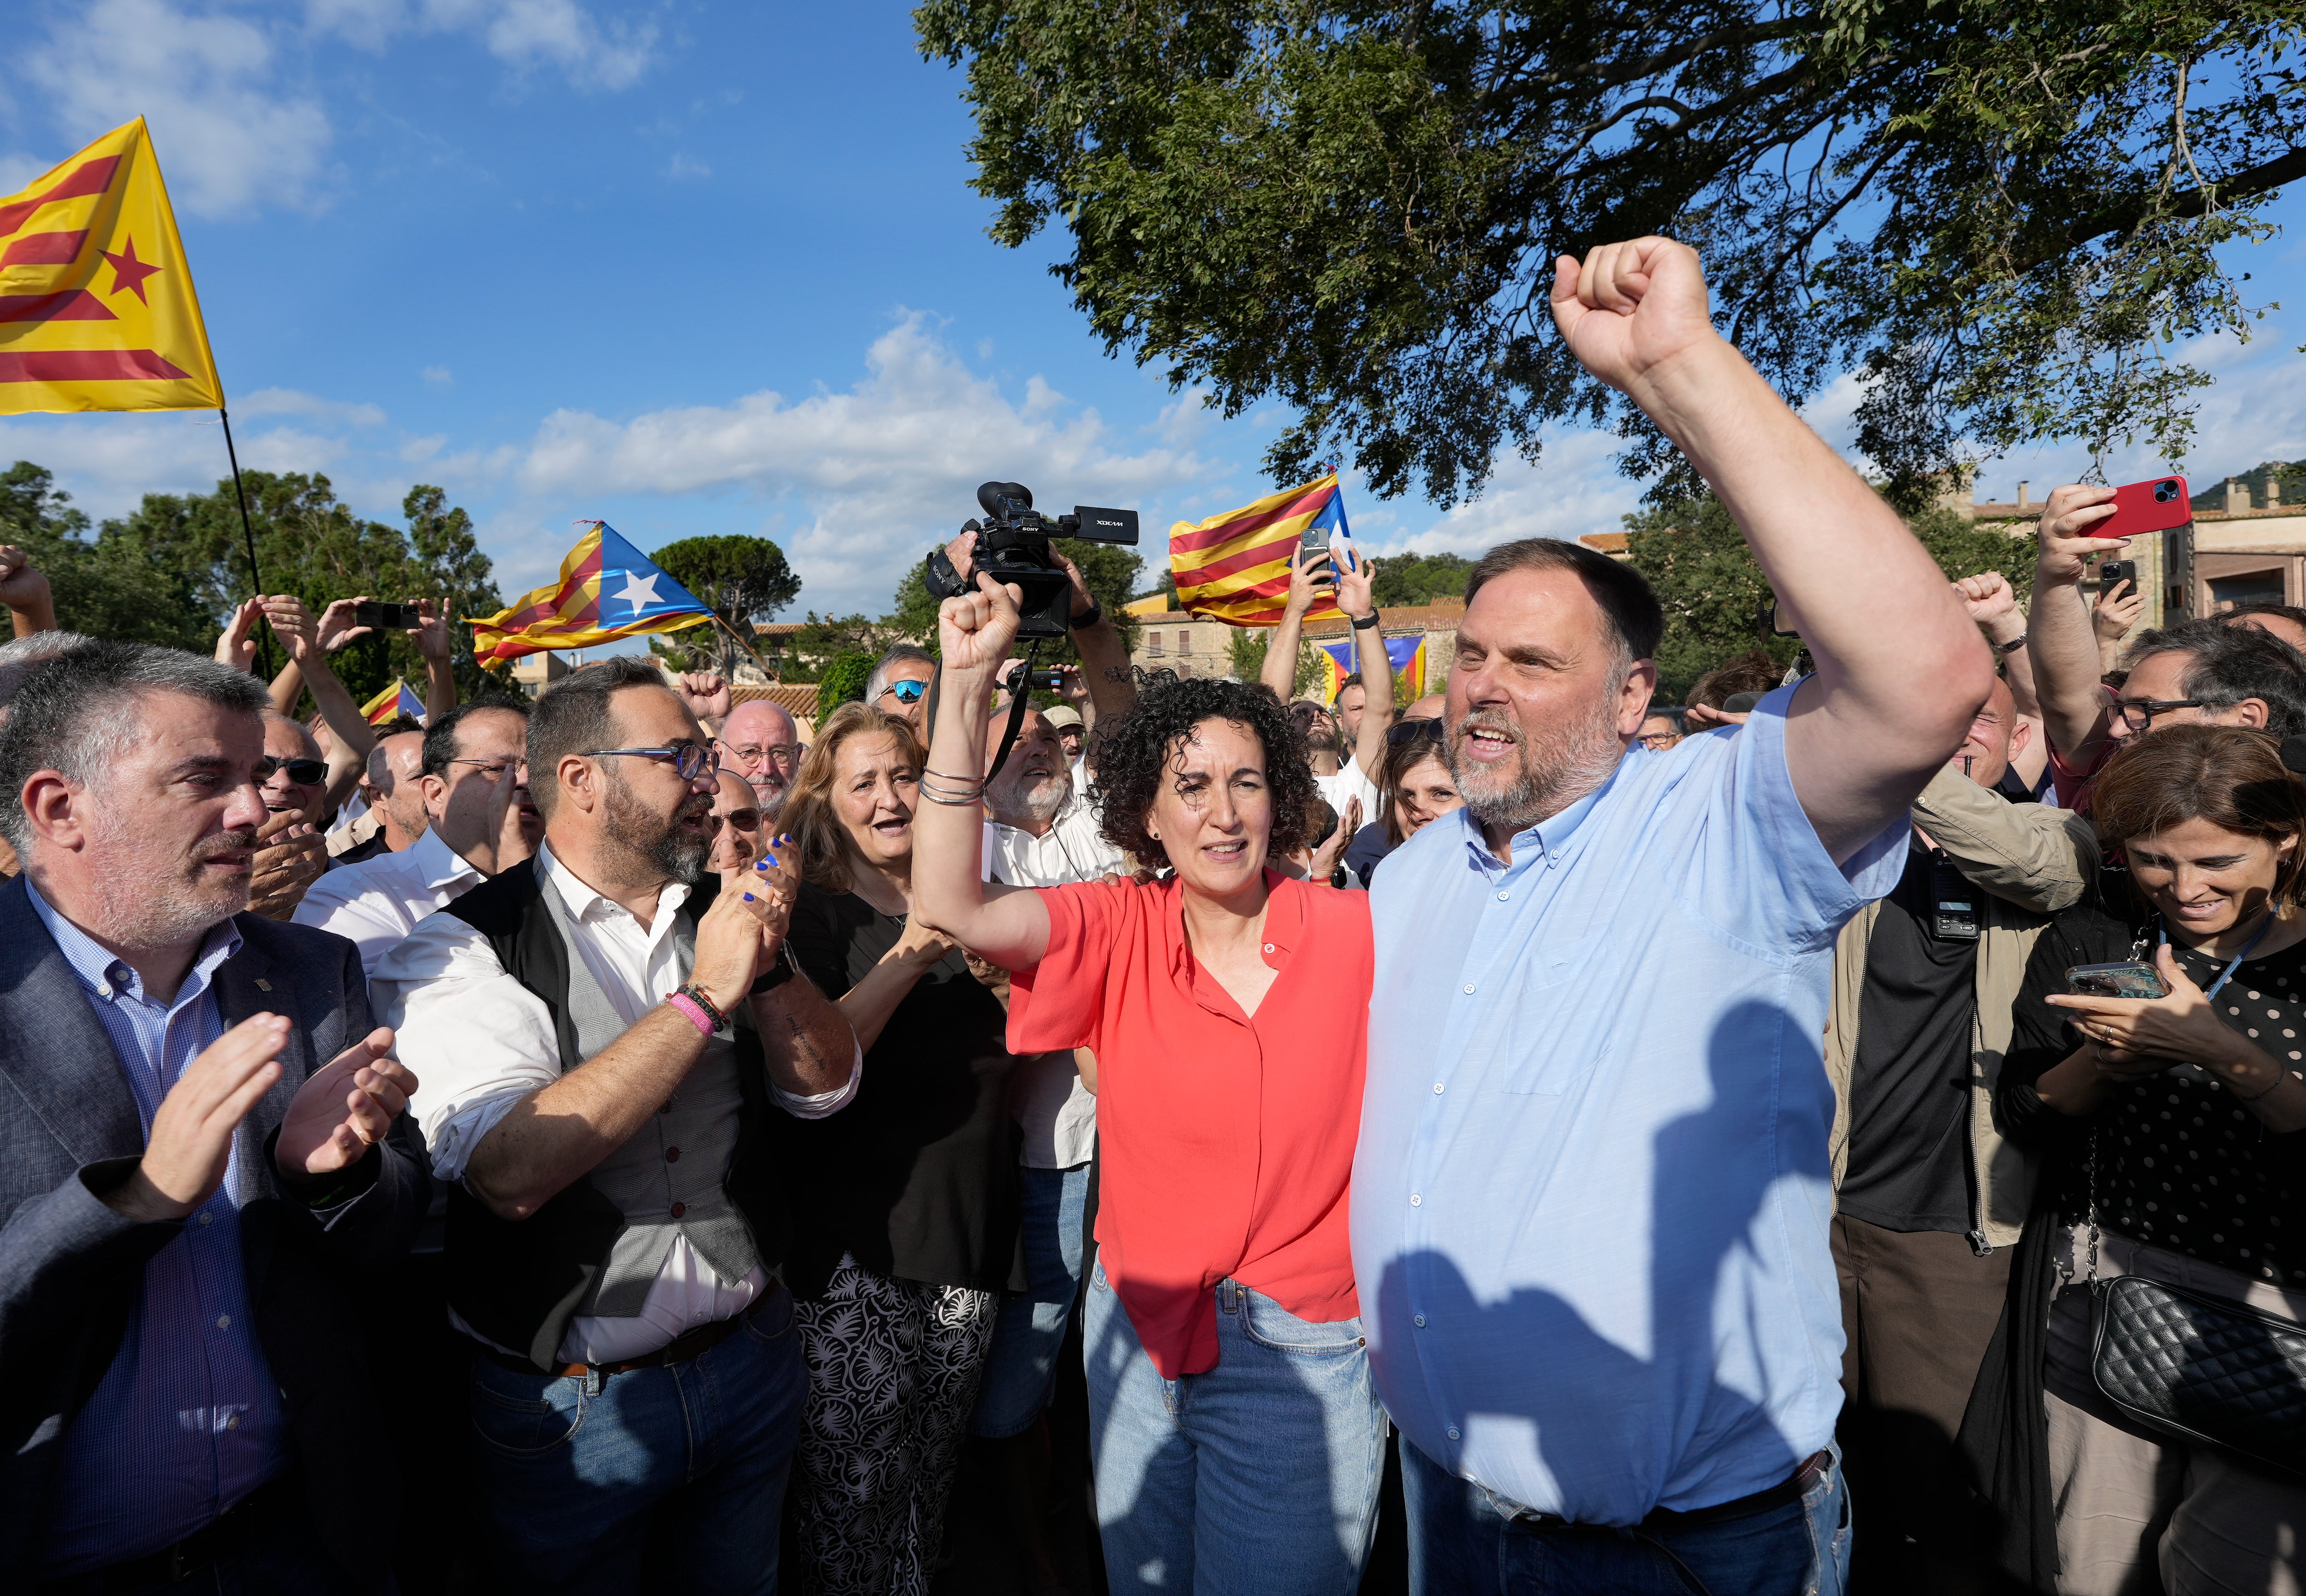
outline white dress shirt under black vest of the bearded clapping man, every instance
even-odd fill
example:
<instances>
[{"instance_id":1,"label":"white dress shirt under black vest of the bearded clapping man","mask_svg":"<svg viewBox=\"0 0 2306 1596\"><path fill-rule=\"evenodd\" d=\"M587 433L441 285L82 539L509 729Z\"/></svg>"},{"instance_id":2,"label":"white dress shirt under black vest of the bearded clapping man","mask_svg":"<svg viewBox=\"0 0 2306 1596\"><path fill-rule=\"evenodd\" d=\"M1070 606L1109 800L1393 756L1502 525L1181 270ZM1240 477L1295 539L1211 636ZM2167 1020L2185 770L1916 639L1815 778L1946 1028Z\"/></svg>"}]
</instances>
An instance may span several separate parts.
<instances>
[{"instance_id":1,"label":"white dress shirt under black vest of the bearded clapping man","mask_svg":"<svg viewBox=\"0 0 2306 1596\"><path fill-rule=\"evenodd\" d=\"M625 1024L639 1022L687 980L687 964L673 943L687 886L666 883L657 893L655 918L643 927L630 909L579 881L549 844L537 849L537 869L583 927L576 955ZM434 913L392 948L369 980L369 999L378 1024L399 1031L399 1059L417 1075L408 1112L417 1116L434 1174L443 1181L461 1181L496 1123L560 1079L560 1040L544 999L505 973L489 939L457 916ZM823 1119L856 1096L860 1075L862 1054L849 1068L849 1084L835 1091L802 1098L770 1084L770 1096L786 1114ZM570 1319L560 1358L636 1358L743 1312L766 1285L768 1275L759 1268L743 1280L719 1280L696 1248L676 1236L639 1317ZM470 1326L459 1322L459 1328L470 1335Z\"/></svg>"}]
</instances>

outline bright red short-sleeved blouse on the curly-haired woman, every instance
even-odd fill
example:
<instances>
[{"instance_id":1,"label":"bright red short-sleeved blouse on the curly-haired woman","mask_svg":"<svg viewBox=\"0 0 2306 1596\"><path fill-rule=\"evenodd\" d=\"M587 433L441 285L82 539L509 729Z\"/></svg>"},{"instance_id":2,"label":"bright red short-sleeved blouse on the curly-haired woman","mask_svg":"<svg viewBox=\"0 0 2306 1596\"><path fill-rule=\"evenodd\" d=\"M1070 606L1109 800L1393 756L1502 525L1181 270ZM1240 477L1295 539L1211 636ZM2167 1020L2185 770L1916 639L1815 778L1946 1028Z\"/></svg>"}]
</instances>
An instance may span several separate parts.
<instances>
[{"instance_id":1,"label":"bright red short-sleeved blouse on the curly-haired woman","mask_svg":"<svg viewBox=\"0 0 2306 1596\"><path fill-rule=\"evenodd\" d=\"M1254 1015L1185 943L1181 886L1042 888L1012 1054L1098 1054L1098 1257L1162 1379L1218 1365L1224 1278L1301 1319L1361 1312L1347 1183L1370 1040L1370 895L1266 872Z\"/></svg>"}]
</instances>

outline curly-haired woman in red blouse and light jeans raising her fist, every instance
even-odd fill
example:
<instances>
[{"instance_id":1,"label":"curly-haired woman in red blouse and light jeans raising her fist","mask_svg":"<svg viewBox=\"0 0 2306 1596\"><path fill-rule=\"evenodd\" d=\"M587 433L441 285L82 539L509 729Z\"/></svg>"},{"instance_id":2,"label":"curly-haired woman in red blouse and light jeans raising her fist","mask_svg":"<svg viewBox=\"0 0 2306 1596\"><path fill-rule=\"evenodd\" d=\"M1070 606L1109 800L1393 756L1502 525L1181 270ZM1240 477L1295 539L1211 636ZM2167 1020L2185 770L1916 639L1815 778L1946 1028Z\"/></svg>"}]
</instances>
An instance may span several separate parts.
<instances>
[{"instance_id":1,"label":"curly-haired woman in red blouse and light jeans raising her fist","mask_svg":"<svg viewBox=\"0 0 2306 1596\"><path fill-rule=\"evenodd\" d=\"M939 613L913 895L1012 971L1010 1052L1098 1059L1086 1361L1109 1582L1344 1596L1386 1444L1347 1250L1367 895L1266 865L1303 842L1312 770L1280 703L1222 680L1151 685L1100 738L1105 835L1169 879L982 881L1017 593L978 588Z\"/></svg>"}]
</instances>

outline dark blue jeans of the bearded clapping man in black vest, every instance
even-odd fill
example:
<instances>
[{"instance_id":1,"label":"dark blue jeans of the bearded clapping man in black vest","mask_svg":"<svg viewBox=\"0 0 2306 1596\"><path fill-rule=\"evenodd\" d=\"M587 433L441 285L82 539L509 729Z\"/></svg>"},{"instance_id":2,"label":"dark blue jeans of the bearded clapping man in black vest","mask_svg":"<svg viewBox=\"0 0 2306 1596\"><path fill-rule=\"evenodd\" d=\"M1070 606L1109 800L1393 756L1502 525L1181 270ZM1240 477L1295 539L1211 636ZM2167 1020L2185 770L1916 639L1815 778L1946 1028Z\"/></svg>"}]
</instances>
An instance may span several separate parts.
<instances>
[{"instance_id":1,"label":"dark blue jeans of the bearded clapping man in black vest","mask_svg":"<svg viewBox=\"0 0 2306 1596\"><path fill-rule=\"evenodd\" d=\"M719 1345L664 1368L553 1379L473 1358L489 1589L773 1596L807 1384L782 1285Z\"/></svg>"}]
</instances>

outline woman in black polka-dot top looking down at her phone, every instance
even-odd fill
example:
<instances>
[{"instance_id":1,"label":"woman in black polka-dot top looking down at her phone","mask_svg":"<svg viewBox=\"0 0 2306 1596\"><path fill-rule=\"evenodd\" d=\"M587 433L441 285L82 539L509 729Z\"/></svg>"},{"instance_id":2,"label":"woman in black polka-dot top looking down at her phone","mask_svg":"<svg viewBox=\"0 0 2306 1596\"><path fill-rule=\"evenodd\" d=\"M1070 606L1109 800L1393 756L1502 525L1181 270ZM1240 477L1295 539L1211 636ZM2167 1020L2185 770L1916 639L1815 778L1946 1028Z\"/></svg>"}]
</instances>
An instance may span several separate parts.
<instances>
[{"instance_id":1,"label":"woman in black polka-dot top looking down at her phone","mask_svg":"<svg viewBox=\"0 0 2306 1596\"><path fill-rule=\"evenodd\" d=\"M2027 966L1995 1109L2045 1169L1962 1448L2032 1589L2297 1589L2306 784L2264 731L2168 727L2115 754L2092 819L2149 916L2068 909ZM2175 1365L2138 1356L2170 1331ZM2271 1361L2209 1379L2237 1340ZM2235 1386L2288 1386L2290 1416Z\"/></svg>"}]
</instances>

